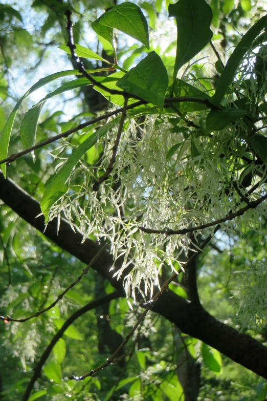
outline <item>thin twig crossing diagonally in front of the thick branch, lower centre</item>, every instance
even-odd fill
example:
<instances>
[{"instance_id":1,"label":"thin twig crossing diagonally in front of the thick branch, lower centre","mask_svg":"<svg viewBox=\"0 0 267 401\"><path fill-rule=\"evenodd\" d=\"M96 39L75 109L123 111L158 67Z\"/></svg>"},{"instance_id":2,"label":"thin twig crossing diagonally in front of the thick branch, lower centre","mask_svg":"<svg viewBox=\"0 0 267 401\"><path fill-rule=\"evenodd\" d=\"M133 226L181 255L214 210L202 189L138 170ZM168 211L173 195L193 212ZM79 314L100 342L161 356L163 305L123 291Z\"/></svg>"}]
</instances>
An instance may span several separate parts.
<instances>
[{"instance_id":1,"label":"thin twig crossing diagonally in front of the thick branch, lower centre","mask_svg":"<svg viewBox=\"0 0 267 401\"><path fill-rule=\"evenodd\" d=\"M214 229L214 233L213 235L216 233L216 231L219 229L220 224L218 224L215 229ZM166 289L168 289L169 284L176 279L176 277L182 272L184 271L188 266L191 265L191 263L194 261L194 259L201 254L201 252L203 251L203 249L205 248L205 246L209 243L209 241L211 240L212 235L210 234L206 240L202 243L202 245L197 248L197 250L195 251L195 253L191 256L191 258L188 260L188 262L185 264L184 268L179 269L176 273L173 273L173 275L165 281L165 283L163 284L163 286L161 287L161 289L155 294L155 296L147 302L147 306L146 309L144 310L144 312L141 314L140 318L138 319L138 321L136 322L136 324L132 327L132 329L130 330L129 334L126 335L124 341L120 344L120 346L117 348L117 350L112 354L112 356L110 356L109 358L107 358L106 362L103 363L102 365L98 366L96 369L91 370L90 372L84 374L83 376L68 376L68 378L70 380L75 380L76 382L79 382L81 380L84 380L86 377L88 376L92 376L93 374L99 372L99 370L102 370L103 368L107 367L108 365L110 365L113 361L114 358L118 355L118 353L120 352L120 350L125 346L125 344L128 343L128 341L130 340L132 334L136 331L136 329L138 328L138 326L140 325L140 323L143 321L143 319L145 318L146 314L148 313L148 311L152 308L152 306L154 305L154 303L160 298L162 292Z\"/></svg>"}]
</instances>

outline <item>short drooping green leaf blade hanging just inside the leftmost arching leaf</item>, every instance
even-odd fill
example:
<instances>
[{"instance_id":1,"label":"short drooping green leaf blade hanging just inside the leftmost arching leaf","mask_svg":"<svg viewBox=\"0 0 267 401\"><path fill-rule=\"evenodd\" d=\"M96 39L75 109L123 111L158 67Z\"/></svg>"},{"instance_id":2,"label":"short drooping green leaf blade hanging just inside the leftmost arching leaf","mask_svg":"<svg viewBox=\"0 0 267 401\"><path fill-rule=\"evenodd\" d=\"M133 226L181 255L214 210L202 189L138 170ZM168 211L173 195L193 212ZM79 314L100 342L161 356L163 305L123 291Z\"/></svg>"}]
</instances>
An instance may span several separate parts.
<instances>
[{"instance_id":1,"label":"short drooping green leaf blade hanging just inside the leftmost arching leaf","mask_svg":"<svg viewBox=\"0 0 267 401\"><path fill-rule=\"evenodd\" d=\"M25 114L20 126L20 139L26 149L35 144L38 119L44 103L38 104Z\"/></svg>"}]
</instances>

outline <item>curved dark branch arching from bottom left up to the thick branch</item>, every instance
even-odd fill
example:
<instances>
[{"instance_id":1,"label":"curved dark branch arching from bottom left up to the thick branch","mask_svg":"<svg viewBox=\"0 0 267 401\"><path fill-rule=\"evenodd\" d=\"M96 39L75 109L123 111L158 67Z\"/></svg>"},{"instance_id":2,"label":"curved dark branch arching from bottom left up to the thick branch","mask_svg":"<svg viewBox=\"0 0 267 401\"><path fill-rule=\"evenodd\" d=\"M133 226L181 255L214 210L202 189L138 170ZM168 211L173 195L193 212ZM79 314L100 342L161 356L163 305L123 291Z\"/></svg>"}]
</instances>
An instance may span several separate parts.
<instances>
[{"instance_id":1,"label":"curved dark branch arching from bottom left up to the thick branch","mask_svg":"<svg viewBox=\"0 0 267 401\"><path fill-rule=\"evenodd\" d=\"M33 389L34 383L36 382L37 378L40 377L41 375L41 369L44 365L44 363L47 361L53 347L55 346L55 344L57 343L57 341L62 337L62 335L64 334L64 331L66 329L68 329L68 327L76 320L78 319L80 316L82 316L85 312L88 312L89 310L92 310L94 308L96 308L97 306L103 305L106 302L110 302L114 299L117 299L121 297L121 294L119 291L115 291L112 292L108 295L105 295L104 297L92 301L89 304L83 306L81 309L77 310L75 313L73 313L70 318L68 320L65 321L65 323L63 324L63 326L61 327L60 330L58 330L58 332L56 333L56 335L54 336L53 340L51 341L51 343L49 344L49 346L46 348L46 350L43 352L40 361L38 362L38 364L36 365L35 369L34 369L34 374L31 378L30 383L28 384L28 387L24 393L23 399L22 401L27 401L31 391Z\"/></svg>"}]
</instances>

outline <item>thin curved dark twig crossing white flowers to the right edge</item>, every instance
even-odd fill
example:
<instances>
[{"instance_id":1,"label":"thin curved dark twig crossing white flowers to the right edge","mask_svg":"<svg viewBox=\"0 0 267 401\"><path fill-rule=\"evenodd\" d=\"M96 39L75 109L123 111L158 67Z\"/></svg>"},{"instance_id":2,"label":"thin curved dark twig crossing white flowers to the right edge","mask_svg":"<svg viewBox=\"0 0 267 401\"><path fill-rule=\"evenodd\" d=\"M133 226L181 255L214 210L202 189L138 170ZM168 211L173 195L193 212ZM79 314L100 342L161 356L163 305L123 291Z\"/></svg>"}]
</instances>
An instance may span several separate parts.
<instances>
[{"instance_id":1,"label":"thin curved dark twig crossing white flowers to the right edge","mask_svg":"<svg viewBox=\"0 0 267 401\"><path fill-rule=\"evenodd\" d=\"M152 228L146 228L146 227L138 227L138 228L147 234L164 234L167 236L177 235L177 234L184 235L187 233L192 233L192 231L201 230L204 228L212 227L213 225L216 225L216 224L224 223L225 221L228 221L228 220L233 220L238 216L242 216L245 212L247 212L247 210L257 207L265 199L267 199L267 194L265 194L264 196L262 196L261 198L255 200L255 201L249 202L249 204L247 206L242 207L241 209L237 210L237 212L235 212L235 213L230 213L228 216L223 217L222 219L211 221L210 223L201 224L201 225L198 225L195 227L182 228L181 230L172 230L172 229L154 230Z\"/></svg>"}]
</instances>

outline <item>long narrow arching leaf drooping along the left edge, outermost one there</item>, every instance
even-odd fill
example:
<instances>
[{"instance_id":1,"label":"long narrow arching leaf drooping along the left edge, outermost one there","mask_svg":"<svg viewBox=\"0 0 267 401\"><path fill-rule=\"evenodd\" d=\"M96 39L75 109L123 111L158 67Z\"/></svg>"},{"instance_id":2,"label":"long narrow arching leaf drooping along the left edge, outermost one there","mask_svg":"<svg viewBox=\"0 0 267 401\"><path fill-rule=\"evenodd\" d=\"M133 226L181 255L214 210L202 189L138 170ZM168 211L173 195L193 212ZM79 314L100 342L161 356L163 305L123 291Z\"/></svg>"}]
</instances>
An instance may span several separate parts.
<instances>
[{"instance_id":1,"label":"long narrow arching leaf drooping along the left edge, outermost one there","mask_svg":"<svg viewBox=\"0 0 267 401\"><path fill-rule=\"evenodd\" d=\"M51 74L47 77L44 77L42 79L39 79L39 81L36 82L23 95L23 97L21 97L19 99L19 101L16 103L14 109L12 110L10 116L8 117L7 122L3 129L2 135L0 137L0 160L7 158L11 131L13 128L13 124L14 124L16 115L17 115L17 111L19 109L20 104L23 102L23 100L26 99L26 97L29 96L31 93L35 92L37 89L43 87L44 85L47 85L47 83L50 83L50 82L54 81L55 79L58 79L58 78L61 78L64 76L68 76L68 75L76 75L78 73L79 73L78 70L60 71L60 72L56 72L55 74ZM1 164L1 168L2 168L4 176L6 177L6 163Z\"/></svg>"}]
</instances>

